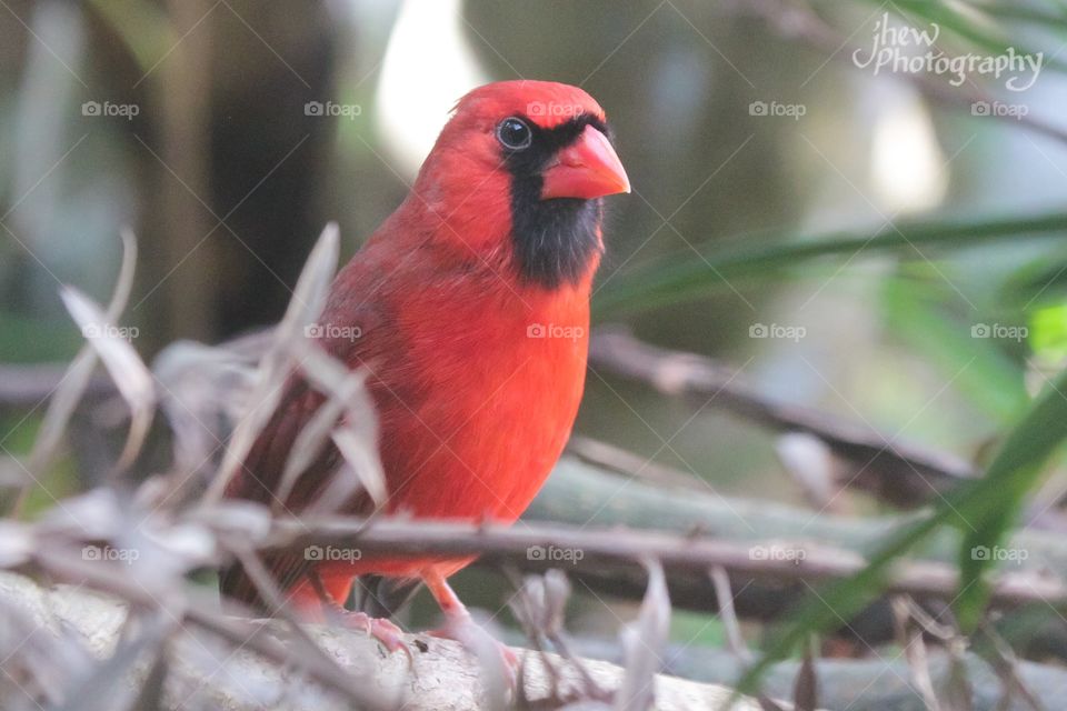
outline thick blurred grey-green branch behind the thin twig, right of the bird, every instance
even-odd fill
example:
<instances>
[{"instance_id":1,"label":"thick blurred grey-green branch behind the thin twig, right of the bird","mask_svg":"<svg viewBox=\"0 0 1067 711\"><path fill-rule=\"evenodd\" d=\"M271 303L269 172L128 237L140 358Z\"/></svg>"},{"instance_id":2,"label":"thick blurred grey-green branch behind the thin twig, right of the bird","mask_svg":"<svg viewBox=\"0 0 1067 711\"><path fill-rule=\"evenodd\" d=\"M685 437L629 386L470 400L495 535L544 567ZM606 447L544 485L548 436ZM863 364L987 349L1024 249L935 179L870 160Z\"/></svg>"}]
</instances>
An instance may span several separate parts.
<instances>
[{"instance_id":1,"label":"thick blurred grey-green branch behind the thin twig, right of the bird","mask_svg":"<svg viewBox=\"0 0 1067 711\"><path fill-rule=\"evenodd\" d=\"M897 528L915 521L915 514L865 518L816 514L767 501L725 498L710 485L700 485L704 492L665 488L628 480L565 458L523 520L601 529L656 529L682 534L696 531L717 541L745 547L777 545L780 551L811 543L831 551L846 551L846 555L862 555ZM1008 570L1026 572L1027 578L1045 574L1067 580L1067 548L1061 535L1023 530L1004 545L1023 558L1006 563ZM931 535L916 557L953 565L958 552L957 537L946 530ZM581 585L588 585L597 592L638 599L645 590L644 574L629 568L617 567L608 572L585 564L566 568L579 590ZM802 582L740 575L738 571L730 573L731 587L737 592L737 613L746 619L778 619L792 609L800 595L809 592ZM676 608L717 610L715 594L702 573L668 571L668 584ZM848 632L871 644L893 639L891 614L885 601L875 603L852 620ZM1041 632L1049 635L1048 642L1055 649L1067 649L1067 625L1045 624Z\"/></svg>"}]
</instances>

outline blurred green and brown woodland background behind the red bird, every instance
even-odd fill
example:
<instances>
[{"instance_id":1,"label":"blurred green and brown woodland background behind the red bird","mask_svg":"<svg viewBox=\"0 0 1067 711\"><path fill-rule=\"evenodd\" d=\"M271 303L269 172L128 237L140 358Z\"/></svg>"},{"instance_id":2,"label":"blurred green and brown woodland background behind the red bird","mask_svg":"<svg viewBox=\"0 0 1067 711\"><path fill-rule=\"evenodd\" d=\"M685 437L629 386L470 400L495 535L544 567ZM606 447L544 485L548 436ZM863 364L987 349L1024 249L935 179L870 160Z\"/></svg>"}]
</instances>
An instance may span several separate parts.
<instances>
[{"instance_id":1,"label":"blurred green and brown woodland background behind the red bird","mask_svg":"<svg viewBox=\"0 0 1067 711\"><path fill-rule=\"evenodd\" d=\"M609 200L598 323L980 462L1067 353L1067 14L1047 4L2 0L0 361L73 356L59 287L107 301L123 226L146 359L277 321L322 226L355 252L456 99L550 79L605 107L634 186ZM876 72L887 20L1044 64L1025 91L1007 86L1025 69ZM887 248L900 226L918 227ZM24 452L38 415L0 415L0 447ZM804 500L770 434L596 367L577 432L727 495ZM76 470L53 493L88 483ZM473 602L499 598L465 574Z\"/></svg>"}]
</instances>

